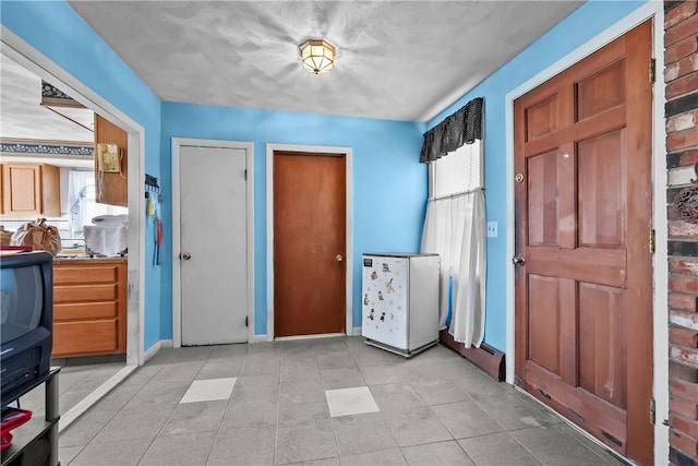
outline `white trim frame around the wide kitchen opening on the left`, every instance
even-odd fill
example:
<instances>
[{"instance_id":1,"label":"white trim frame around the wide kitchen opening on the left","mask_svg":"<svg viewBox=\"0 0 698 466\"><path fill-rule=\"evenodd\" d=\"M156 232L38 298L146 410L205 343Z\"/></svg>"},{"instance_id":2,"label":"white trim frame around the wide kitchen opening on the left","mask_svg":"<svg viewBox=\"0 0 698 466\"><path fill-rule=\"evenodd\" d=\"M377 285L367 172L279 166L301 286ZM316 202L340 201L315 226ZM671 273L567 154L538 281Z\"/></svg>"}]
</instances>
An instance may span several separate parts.
<instances>
[{"instance_id":1,"label":"white trim frame around the wide kitchen opening on the left","mask_svg":"<svg viewBox=\"0 0 698 466\"><path fill-rule=\"evenodd\" d=\"M127 365L144 362L143 328L145 321L145 225L143 186L145 172L145 129L103 96L80 82L20 36L0 28L2 52L37 76L60 87L91 110L122 128L129 134L129 255L127 310ZM153 135L159 138L159 134Z\"/></svg>"}]
</instances>

